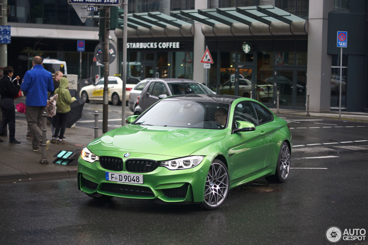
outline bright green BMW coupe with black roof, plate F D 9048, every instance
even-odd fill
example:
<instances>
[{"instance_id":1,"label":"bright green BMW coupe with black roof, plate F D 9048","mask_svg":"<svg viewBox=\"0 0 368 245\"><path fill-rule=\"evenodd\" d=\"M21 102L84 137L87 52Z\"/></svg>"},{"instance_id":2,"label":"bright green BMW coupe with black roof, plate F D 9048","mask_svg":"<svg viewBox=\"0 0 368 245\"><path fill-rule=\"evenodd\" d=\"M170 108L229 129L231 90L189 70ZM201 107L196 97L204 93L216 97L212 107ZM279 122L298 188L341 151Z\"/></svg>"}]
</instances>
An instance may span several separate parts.
<instances>
[{"instance_id":1,"label":"bright green BMW coupe with black roof, plate F D 9048","mask_svg":"<svg viewBox=\"0 0 368 245\"><path fill-rule=\"evenodd\" d=\"M289 176L285 120L249 98L176 95L93 140L78 160L88 196L200 203L217 209L231 188Z\"/></svg>"}]
</instances>

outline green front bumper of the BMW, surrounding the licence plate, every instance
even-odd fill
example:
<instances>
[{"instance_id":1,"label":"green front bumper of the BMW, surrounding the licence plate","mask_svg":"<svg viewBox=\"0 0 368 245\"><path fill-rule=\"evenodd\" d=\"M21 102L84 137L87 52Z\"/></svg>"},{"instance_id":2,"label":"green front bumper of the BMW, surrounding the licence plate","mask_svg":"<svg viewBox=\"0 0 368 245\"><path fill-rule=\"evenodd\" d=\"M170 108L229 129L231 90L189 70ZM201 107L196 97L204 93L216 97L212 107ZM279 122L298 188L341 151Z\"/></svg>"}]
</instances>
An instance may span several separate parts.
<instances>
[{"instance_id":1,"label":"green front bumper of the BMW, surrounding the licence plate","mask_svg":"<svg viewBox=\"0 0 368 245\"><path fill-rule=\"evenodd\" d=\"M103 156L116 157L116 152L103 151ZM101 156L101 155L100 155ZM131 153L130 159L151 159L155 161L169 160L173 157L162 155L142 155ZM132 173L125 170L107 170L99 161L89 163L79 157L78 160L78 188L89 195L97 193L109 196L137 199L156 199L163 202L202 202L204 185L211 156L205 156L202 162L193 168L183 170L169 170L166 167L157 167L148 173ZM121 183L106 180L106 172L123 174L142 174L143 184Z\"/></svg>"}]
</instances>

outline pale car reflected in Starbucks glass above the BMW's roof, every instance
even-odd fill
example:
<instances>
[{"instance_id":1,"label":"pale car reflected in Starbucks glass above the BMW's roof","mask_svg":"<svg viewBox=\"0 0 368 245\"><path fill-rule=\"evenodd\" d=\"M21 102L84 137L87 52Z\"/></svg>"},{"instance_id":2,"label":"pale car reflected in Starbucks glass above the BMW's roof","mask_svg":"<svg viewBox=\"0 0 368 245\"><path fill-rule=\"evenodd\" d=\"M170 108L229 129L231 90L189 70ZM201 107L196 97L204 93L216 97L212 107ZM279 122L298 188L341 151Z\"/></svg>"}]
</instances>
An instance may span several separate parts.
<instances>
[{"instance_id":1,"label":"pale car reflected in Starbucks glass above the BMW's roof","mask_svg":"<svg viewBox=\"0 0 368 245\"><path fill-rule=\"evenodd\" d=\"M265 81L262 81L262 84L257 84L255 89L255 94L253 94L253 98L259 100L261 102L268 102L270 98L273 96L273 86L272 84L268 84ZM252 90L252 82L245 78L239 79L239 96L242 97L251 97ZM220 93L227 95L234 95L235 93L235 83L231 82L231 80L224 82L220 85Z\"/></svg>"}]
</instances>

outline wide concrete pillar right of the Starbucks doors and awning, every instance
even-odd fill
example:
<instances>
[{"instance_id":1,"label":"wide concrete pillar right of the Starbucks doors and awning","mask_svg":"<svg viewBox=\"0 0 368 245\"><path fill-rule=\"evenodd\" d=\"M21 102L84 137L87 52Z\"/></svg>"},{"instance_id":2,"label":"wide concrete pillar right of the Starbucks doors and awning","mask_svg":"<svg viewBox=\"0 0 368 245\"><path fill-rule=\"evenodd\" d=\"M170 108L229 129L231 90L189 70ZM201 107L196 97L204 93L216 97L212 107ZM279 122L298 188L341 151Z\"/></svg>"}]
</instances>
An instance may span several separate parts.
<instances>
[{"instance_id":1,"label":"wide concrete pillar right of the Starbucks doors and awning","mask_svg":"<svg viewBox=\"0 0 368 245\"><path fill-rule=\"evenodd\" d=\"M327 54L328 13L333 1L309 0L307 94L311 111L329 111L331 55Z\"/></svg>"}]
</instances>

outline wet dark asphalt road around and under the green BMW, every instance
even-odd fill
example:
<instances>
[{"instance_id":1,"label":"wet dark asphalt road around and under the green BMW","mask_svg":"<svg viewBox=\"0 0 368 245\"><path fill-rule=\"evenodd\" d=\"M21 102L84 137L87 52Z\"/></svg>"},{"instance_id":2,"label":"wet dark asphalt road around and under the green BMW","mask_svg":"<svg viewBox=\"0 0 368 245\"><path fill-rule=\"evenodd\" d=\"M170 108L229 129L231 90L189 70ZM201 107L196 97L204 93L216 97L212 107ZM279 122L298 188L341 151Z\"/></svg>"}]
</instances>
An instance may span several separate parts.
<instances>
[{"instance_id":1,"label":"wet dark asphalt road around and under the green BMW","mask_svg":"<svg viewBox=\"0 0 368 245\"><path fill-rule=\"evenodd\" d=\"M1 184L0 243L315 245L331 244L331 226L367 231L368 123L285 119L293 150L283 184L261 178L237 187L214 211L99 202L78 191L76 179ZM337 244L368 244L367 236Z\"/></svg>"}]
</instances>

